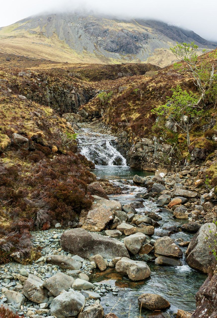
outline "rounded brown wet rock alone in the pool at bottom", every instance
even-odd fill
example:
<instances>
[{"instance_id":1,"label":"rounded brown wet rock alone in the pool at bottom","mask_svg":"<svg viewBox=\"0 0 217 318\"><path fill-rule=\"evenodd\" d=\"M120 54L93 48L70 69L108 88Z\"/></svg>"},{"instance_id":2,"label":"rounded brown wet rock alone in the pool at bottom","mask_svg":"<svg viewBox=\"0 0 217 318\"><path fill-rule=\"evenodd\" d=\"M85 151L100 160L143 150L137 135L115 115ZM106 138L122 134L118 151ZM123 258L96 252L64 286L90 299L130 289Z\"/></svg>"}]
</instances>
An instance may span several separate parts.
<instances>
[{"instance_id":1,"label":"rounded brown wet rock alone in the pool at bottom","mask_svg":"<svg viewBox=\"0 0 217 318\"><path fill-rule=\"evenodd\" d=\"M139 308L149 310L166 309L170 307L169 301L157 294L142 294L138 297Z\"/></svg>"}]
</instances>

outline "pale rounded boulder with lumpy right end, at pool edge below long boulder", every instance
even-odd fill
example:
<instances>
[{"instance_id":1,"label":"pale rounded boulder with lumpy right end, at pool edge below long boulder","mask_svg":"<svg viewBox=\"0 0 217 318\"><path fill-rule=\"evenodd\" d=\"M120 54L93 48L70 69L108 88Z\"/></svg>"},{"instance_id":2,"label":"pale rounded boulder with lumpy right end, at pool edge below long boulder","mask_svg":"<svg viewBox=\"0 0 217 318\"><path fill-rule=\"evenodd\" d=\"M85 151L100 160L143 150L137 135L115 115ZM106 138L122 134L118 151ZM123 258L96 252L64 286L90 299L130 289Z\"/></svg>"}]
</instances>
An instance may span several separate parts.
<instances>
[{"instance_id":1,"label":"pale rounded boulder with lumpy right end, at pool edge below long boulder","mask_svg":"<svg viewBox=\"0 0 217 318\"><path fill-rule=\"evenodd\" d=\"M149 266L142 261L122 257L115 265L117 273L128 275L130 280L144 280L151 274Z\"/></svg>"}]
</instances>

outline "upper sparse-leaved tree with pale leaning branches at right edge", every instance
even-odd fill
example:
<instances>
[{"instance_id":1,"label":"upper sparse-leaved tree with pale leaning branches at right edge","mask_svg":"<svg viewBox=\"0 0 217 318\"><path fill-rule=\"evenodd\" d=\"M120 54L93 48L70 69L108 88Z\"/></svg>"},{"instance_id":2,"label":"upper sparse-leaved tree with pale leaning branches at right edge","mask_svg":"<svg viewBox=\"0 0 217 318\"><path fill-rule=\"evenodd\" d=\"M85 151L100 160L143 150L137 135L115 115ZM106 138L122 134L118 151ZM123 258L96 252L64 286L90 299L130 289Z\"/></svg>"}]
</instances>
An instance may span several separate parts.
<instances>
[{"instance_id":1,"label":"upper sparse-leaved tree with pale leaning branches at right edge","mask_svg":"<svg viewBox=\"0 0 217 318\"><path fill-rule=\"evenodd\" d=\"M203 101L206 103L210 99L216 107L217 101L217 71L214 68L214 62L217 59L217 51L211 52L208 58L205 54L199 57L198 46L191 42L191 44L181 43L171 48L173 54L177 59L186 62L185 70L192 73L194 84L198 87L200 98L198 104ZM205 53L206 50L203 50ZM175 63L175 68L180 68L181 64Z\"/></svg>"}]
</instances>

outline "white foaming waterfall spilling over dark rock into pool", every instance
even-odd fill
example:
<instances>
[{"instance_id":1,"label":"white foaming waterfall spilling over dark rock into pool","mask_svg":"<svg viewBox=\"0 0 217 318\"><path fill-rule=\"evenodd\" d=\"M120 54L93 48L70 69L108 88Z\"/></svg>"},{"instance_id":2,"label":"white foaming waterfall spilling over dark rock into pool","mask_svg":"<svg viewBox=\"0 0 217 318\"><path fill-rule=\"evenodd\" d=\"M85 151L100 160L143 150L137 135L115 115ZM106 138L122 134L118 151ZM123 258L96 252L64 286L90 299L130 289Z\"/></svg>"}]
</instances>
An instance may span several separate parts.
<instances>
[{"instance_id":1,"label":"white foaming waterfall spilling over dark rock into pool","mask_svg":"<svg viewBox=\"0 0 217 318\"><path fill-rule=\"evenodd\" d=\"M97 165L127 166L126 159L115 149L112 142L115 137L82 129L79 134L79 148L81 155Z\"/></svg>"}]
</instances>

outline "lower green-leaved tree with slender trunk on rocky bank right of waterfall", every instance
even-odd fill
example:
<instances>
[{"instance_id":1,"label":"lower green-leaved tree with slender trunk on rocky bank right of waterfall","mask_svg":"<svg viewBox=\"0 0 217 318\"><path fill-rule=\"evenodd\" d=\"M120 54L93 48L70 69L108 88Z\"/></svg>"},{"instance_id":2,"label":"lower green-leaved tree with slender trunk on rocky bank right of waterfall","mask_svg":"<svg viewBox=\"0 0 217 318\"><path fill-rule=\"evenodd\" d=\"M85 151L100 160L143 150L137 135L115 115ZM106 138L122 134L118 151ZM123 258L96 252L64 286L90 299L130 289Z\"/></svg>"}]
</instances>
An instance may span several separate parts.
<instances>
[{"instance_id":1,"label":"lower green-leaved tree with slender trunk on rocky bank right of waterfall","mask_svg":"<svg viewBox=\"0 0 217 318\"><path fill-rule=\"evenodd\" d=\"M167 96L166 103L152 109L152 113L171 118L186 133L187 145L190 145L190 129L203 110L198 106L198 96L191 91L182 90L181 86L172 88L172 96Z\"/></svg>"}]
</instances>

